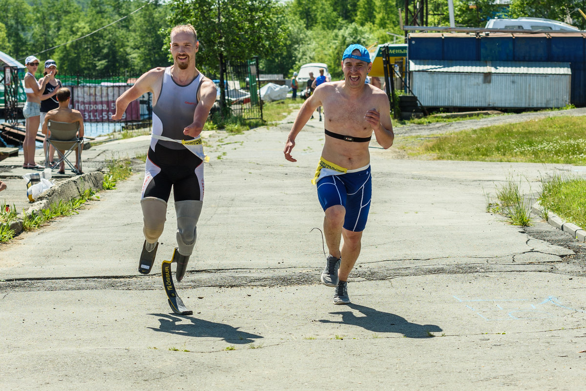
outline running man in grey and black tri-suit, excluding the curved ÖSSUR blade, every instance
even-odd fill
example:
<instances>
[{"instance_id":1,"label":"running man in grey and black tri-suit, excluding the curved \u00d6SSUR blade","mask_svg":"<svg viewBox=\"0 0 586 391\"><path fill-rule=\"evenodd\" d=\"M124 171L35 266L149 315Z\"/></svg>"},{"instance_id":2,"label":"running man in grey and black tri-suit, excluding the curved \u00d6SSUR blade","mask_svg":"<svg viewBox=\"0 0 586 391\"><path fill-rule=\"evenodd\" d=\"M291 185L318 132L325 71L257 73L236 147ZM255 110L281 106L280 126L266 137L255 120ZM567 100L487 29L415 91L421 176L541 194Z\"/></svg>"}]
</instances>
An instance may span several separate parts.
<instances>
[{"instance_id":1,"label":"running man in grey and black tri-suit, excluding the curved \u00d6SSUR blade","mask_svg":"<svg viewBox=\"0 0 586 391\"><path fill-rule=\"evenodd\" d=\"M216 86L195 66L198 50L199 41L192 25L173 28L170 49L173 65L143 74L116 100L116 113L112 116L115 120L122 119L130 102L152 92L152 138L141 196L145 241L138 271L151 272L173 188L178 245L173 262L177 263L178 281L185 275L197 239L205 159L200 133L216 101Z\"/></svg>"}]
</instances>

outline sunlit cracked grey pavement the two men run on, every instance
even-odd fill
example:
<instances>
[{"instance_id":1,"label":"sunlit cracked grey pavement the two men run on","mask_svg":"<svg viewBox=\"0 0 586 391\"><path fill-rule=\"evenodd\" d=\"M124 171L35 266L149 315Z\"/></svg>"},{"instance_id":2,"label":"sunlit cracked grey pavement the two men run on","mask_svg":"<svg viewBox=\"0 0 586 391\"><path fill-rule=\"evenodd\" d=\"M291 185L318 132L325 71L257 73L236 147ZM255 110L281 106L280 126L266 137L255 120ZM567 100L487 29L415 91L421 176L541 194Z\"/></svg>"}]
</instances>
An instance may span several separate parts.
<instances>
[{"instance_id":1,"label":"sunlit cracked grey pavement the two men run on","mask_svg":"<svg viewBox=\"0 0 586 391\"><path fill-rule=\"evenodd\" d=\"M577 167L419 161L372 142L352 304L334 306L312 231L322 124L299 134L295 164L282 157L289 128L205 135L196 252L176 283L192 316L171 313L159 266L136 272L142 167L79 215L3 245L2 389L583 388L584 243L485 211L495 184L523 178L533 194L543 174ZM172 204L158 262L175 243Z\"/></svg>"}]
</instances>

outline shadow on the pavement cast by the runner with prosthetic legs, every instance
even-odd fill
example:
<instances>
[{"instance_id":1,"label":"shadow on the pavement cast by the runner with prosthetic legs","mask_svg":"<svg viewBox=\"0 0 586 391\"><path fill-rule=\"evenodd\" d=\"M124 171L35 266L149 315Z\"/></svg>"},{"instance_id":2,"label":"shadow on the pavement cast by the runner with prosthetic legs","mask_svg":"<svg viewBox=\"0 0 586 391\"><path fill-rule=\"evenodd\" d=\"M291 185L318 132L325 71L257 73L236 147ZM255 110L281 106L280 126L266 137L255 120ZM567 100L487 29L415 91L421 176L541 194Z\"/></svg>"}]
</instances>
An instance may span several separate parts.
<instances>
[{"instance_id":1,"label":"shadow on the pavement cast by the runner with prosthetic legs","mask_svg":"<svg viewBox=\"0 0 586 391\"><path fill-rule=\"evenodd\" d=\"M159 328L148 327L154 331L168 332L170 334L184 335L185 337L212 337L222 338L231 344L250 344L255 339L263 338L261 335L250 334L238 330L239 327L232 327L223 323L214 323L190 316L178 317L169 314L149 314L159 317ZM183 320L189 319L192 324L181 324Z\"/></svg>"}]
</instances>

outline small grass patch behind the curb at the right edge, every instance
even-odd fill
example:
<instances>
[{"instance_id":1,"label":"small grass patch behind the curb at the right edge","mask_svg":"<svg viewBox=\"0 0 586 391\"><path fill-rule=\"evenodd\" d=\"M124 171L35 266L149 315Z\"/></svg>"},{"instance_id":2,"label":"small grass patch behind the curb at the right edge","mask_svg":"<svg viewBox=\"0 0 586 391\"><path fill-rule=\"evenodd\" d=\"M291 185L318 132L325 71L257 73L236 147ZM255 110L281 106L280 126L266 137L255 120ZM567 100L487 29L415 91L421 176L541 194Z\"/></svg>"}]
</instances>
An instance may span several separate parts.
<instances>
[{"instance_id":1,"label":"small grass patch behind the curb at the right edge","mask_svg":"<svg viewBox=\"0 0 586 391\"><path fill-rule=\"evenodd\" d=\"M586 228L586 179L556 174L542 182L539 201L544 211Z\"/></svg>"}]
</instances>

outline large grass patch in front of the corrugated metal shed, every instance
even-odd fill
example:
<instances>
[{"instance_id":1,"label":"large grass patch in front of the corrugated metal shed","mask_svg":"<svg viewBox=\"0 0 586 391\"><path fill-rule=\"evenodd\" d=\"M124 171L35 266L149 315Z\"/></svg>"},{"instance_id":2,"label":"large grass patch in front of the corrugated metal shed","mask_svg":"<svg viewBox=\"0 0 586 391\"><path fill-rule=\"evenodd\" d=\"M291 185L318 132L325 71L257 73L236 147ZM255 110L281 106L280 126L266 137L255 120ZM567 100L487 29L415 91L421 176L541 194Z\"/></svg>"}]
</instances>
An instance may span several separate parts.
<instances>
[{"instance_id":1,"label":"large grass patch in front of the corrugated metal shed","mask_svg":"<svg viewBox=\"0 0 586 391\"><path fill-rule=\"evenodd\" d=\"M583 165L585 135L584 117L560 116L448 133L402 148L430 159Z\"/></svg>"}]
</instances>

